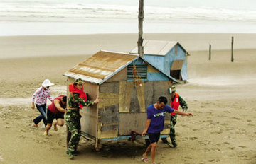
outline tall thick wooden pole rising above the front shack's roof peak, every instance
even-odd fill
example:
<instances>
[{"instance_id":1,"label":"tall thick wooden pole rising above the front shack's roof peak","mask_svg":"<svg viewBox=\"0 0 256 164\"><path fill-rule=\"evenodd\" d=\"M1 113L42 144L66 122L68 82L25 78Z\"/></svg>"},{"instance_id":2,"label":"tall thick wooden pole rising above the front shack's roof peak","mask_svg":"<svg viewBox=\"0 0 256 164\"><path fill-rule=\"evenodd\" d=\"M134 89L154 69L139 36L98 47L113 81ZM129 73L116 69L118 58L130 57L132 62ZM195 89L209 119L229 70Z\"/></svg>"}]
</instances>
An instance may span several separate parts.
<instances>
[{"instance_id":1,"label":"tall thick wooden pole rising above the front shack's roof peak","mask_svg":"<svg viewBox=\"0 0 256 164\"><path fill-rule=\"evenodd\" d=\"M144 54L144 47L142 46L142 43L143 43L143 38L142 38L142 35L143 35L143 19L144 19L143 6L144 6L144 0L139 0L139 16L138 16L138 19L139 19L139 38L138 38L138 42L137 42L139 57L143 57L143 54Z\"/></svg>"}]
</instances>

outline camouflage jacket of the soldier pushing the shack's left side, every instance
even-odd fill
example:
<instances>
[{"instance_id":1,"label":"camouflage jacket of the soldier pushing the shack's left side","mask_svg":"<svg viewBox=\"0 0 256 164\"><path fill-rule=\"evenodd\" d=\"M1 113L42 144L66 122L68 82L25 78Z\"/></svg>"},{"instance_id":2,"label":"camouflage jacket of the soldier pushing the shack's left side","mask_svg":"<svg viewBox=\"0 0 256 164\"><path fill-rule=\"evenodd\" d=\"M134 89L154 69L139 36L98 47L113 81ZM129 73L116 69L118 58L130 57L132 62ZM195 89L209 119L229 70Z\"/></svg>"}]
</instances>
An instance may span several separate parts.
<instances>
[{"instance_id":1,"label":"camouflage jacket of the soldier pushing the shack's left side","mask_svg":"<svg viewBox=\"0 0 256 164\"><path fill-rule=\"evenodd\" d=\"M70 108L80 108L79 104L81 104L84 107L93 105L93 100L82 100L82 98L79 97L78 93L70 93L69 98L68 98L68 107Z\"/></svg>"}]
</instances>

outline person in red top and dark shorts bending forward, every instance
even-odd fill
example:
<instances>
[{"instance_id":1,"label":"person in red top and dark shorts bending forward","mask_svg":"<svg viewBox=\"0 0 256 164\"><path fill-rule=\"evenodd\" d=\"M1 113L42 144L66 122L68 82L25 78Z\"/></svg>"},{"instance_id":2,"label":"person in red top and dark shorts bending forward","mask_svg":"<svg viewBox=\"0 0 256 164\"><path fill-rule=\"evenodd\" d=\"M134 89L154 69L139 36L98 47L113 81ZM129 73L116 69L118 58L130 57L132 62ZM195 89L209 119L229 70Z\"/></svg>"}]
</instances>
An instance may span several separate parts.
<instances>
[{"instance_id":1,"label":"person in red top and dark shorts bending forward","mask_svg":"<svg viewBox=\"0 0 256 164\"><path fill-rule=\"evenodd\" d=\"M44 136L47 136L50 130L50 127L53 124L54 130L58 131L58 126L62 127L64 124L64 114L67 107L67 96L60 95L53 100L53 102L47 108L47 125L46 131L43 133ZM56 122L53 122L53 119L56 119Z\"/></svg>"}]
</instances>

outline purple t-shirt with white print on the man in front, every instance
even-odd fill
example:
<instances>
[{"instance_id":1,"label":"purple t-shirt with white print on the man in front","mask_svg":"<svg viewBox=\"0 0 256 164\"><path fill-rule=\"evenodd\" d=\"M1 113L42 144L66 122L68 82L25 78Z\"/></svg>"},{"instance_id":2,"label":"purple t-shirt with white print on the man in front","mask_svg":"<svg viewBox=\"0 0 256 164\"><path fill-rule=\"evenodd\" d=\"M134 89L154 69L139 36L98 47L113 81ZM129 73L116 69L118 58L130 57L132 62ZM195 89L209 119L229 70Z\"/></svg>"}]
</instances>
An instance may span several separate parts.
<instances>
[{"instance_id":1,"label":"purple t-shirt with white print on the man in front","mask_svg":"<svg viewBox=\"0 0 256 164\"><path fill-rule=\"evenodd\" d=\"M164 116L166 112L174 112L174 109L169 105L165 105L161 110L156 110L154 105L149 105L146 108L147 119L151 119L148 133L159 133L164 130Z\"/></svg>"}]
</instances>

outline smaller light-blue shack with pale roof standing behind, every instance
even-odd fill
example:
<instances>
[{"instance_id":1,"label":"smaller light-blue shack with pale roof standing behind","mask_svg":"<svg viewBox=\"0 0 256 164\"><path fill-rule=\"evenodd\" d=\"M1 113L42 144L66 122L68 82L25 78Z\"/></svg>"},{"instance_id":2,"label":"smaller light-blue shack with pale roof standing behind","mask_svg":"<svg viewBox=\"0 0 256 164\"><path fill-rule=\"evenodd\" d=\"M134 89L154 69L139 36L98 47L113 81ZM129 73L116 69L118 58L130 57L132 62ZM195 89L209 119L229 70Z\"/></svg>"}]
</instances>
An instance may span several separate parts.
<instances>
[{"instance_id":1,"label":"smaller light-blue shack with pale roof standing behind","mask_svg":"<svg viewBox=\"0 0 256 164\"><path fill-rule=\"evenodd\" d=\"M144 59L178 81L188 80L188 52L179 42L163 40L144 40ZM131 54L137 54L134 47Z\"/></svg>"}]
</instances>

